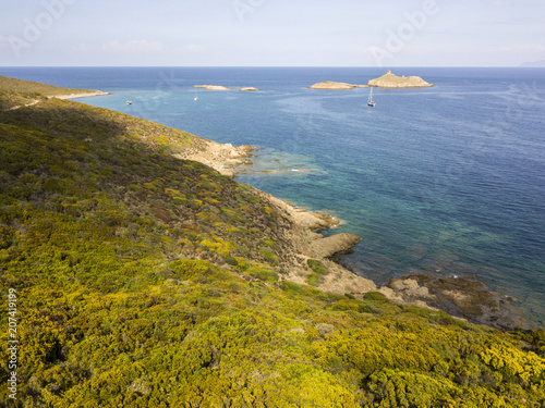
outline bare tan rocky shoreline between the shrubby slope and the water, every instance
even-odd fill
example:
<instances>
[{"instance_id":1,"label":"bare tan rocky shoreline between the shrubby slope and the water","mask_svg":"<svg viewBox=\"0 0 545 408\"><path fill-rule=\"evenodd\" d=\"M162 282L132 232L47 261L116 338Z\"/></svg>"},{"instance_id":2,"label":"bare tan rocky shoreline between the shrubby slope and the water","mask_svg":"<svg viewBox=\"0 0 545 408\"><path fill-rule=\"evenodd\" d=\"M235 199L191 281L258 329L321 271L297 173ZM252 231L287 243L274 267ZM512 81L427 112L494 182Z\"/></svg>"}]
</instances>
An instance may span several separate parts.
<instances>
[{"instance_id":1,"label":"bare tan rocky shoreline between the shrubby slope and the water","mask_svg":"<svg viewBox=\"0 0 545 408\"><path fill-rule=\"evenodd\" d=\"M90 91L55 97L75 99L98 95L108 94ZM198 148L185 150L175 157L198 161L223 175L235 176L240 169L252 165L252 157L256 156L255 146L235 147L231 144L219 144L202 138L199 140L202 143L198 144ZM338 227L341 224L339 219L327 213L296 208L292 203L256 188L253 189L293 225L287 237L293 244L293 249L287 261L290 269L284 280L307 284L307 277L313 271L306 267L306 263L311 259L318 260L330 271L316 285L326 292L348 294L356 298L363 298L368 292L378 292L389 300L401 305L443 310L453 317L496 329L526 327L513 299L488 290L473 276L447 277L434 276L431 273L414 273L400 279L391 279L384 286L376 285L339 262L339 256L350 252L360 243L359 236L341 233L325 237L318 233Z\"/></svg>"}]
</instances>

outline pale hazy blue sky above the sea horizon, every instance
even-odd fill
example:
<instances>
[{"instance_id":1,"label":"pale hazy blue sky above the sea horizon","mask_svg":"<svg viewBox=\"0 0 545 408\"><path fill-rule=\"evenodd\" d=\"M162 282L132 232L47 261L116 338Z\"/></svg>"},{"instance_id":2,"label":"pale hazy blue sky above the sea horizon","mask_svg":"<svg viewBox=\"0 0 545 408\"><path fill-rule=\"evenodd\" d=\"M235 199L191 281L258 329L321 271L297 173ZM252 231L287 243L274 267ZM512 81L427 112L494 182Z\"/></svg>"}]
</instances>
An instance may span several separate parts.
<instances>
[{"instance_id":1,"label":"pale hazy blue sky above the sea horizon","mask_svg":"<svg viewBox=\"0 0 545 408\"><path fill-rule=\"evenodd\" d=\"M518 66L544 0L0 0L0 66Z\"/></svg>"}]
</instances>

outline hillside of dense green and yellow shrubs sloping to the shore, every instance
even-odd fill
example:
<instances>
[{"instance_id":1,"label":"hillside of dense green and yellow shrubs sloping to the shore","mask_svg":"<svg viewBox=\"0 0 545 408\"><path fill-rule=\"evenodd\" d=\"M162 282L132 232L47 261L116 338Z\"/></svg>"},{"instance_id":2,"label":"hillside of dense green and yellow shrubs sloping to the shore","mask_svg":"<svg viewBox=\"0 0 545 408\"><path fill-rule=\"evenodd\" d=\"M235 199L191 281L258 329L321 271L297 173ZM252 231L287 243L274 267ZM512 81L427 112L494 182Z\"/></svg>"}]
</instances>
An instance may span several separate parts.
<instances>
[{"instance_id":1,"label":"hillside of dense green and yellow shrubs sloping to the shore","mask_svg":"<svg viewBox=\"0 0 545 408\"><path fill-rule=\"evenodd\" d=\"M300 265L311 285L286 281L296 264L290 221L251 187L172 158L198 138L41 100L0 112L16 405L543 406L542 331L324 293L313 287L329 273L317 260ZM7 345L5 313L1 325ZM4 406L9 374L0 364Z\"/></svg>"}]
</instances>

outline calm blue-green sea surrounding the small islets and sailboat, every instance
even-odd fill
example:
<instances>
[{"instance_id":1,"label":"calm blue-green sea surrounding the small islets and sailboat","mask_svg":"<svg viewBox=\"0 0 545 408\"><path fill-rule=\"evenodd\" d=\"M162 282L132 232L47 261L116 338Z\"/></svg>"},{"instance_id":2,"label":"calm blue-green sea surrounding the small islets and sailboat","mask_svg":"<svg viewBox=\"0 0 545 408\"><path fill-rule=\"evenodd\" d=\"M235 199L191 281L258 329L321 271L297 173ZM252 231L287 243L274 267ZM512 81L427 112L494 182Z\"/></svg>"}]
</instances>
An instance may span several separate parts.
<instances>
[{"instance_id":1,"label":"calm blue-green sea surrounding the small islets and sailboat","mask_svg":"<svg viewBox=\"0 0 545 408\"><path fill-rule=\"evenodd\" d=\"M78 99L219 143L258 147L238 181L342 220L343 263L385 284L475 276L545 327L545 70L396 67L432 88L366 84L383 67L0 67L108 96ZM194 85L259 90L210 91ZM126 101L132 101L126 104Z\"/></svg>"}]
</instances>

